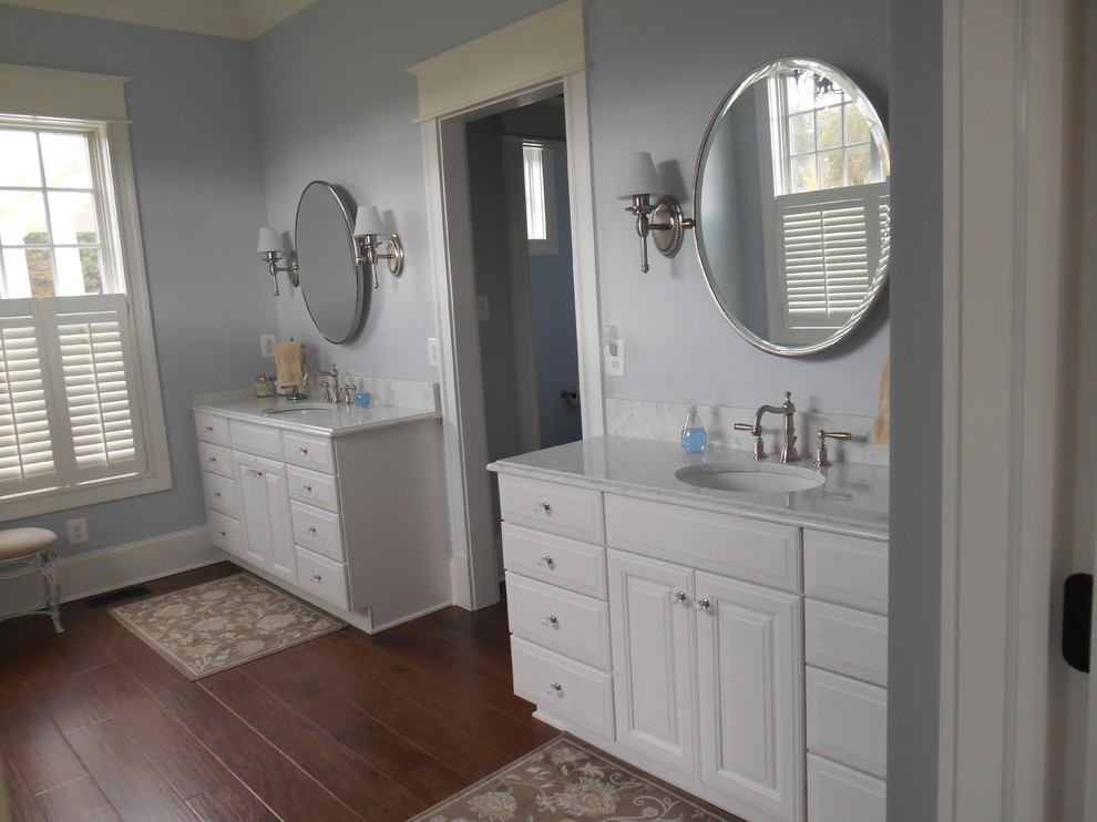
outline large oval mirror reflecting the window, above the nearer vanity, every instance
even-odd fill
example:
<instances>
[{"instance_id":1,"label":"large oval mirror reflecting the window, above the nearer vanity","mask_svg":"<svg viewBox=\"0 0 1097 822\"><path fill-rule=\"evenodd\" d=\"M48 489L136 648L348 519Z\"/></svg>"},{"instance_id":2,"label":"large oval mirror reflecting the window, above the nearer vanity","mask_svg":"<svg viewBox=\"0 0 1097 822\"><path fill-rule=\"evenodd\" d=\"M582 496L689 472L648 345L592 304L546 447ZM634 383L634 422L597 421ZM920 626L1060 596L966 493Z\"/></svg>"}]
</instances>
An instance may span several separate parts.
<instances>
[{"instance_id":1,"label":"large oval mirror reflecting the window, above the nearer vanity","mask_svg":"<svg viewBox=\"0 0 1097 822\"><path fill-rule=\"evenodd\" d=\"M788 58L747 75L708 126L694 179L697 254L751 345L830 348L888 277L888 136L845 74Z\"/></svg>"}]
</instances>

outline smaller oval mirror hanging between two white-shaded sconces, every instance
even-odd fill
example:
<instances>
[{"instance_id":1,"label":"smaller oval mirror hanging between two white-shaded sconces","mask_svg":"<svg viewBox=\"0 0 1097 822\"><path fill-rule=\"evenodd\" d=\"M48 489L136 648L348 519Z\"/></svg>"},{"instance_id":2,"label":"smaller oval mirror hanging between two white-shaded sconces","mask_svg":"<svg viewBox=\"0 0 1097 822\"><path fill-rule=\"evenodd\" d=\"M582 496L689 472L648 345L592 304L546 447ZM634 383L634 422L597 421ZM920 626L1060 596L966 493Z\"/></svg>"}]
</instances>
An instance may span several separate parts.
<instances>
[{"instance_id":1,"label":"smaller oval mirror hanging between two white-shaded sconces","mask_svg":"<svg viewBox=\"0 0 1097 822\"><path fill-rule=\"evenodd\" d=\"M369 289L355 254L350 212L322 181L305 186L297 204L297 265L305 305L324 338L346 342L368 310Z\"/></svg>"}]
</instances>

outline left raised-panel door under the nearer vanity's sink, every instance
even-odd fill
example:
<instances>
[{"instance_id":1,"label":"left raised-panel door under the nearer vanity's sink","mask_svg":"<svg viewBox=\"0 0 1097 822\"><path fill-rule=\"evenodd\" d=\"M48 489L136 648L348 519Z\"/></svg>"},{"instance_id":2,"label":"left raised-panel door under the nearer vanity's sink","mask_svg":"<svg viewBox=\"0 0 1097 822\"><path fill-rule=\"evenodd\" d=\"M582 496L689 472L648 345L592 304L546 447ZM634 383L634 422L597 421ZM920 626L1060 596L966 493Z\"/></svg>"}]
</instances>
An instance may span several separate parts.
<instances>
[{"instance_id":1,"label":"left raised-panel door under the nearer vanity's sink","mask_svg":"<svg viewBox=\"0 0 1097 822\"><path fill-rule=\"evenodd\" d=\"M693 571L608 552L617 741L696 769Z\"/></svg>"}]
</instances>

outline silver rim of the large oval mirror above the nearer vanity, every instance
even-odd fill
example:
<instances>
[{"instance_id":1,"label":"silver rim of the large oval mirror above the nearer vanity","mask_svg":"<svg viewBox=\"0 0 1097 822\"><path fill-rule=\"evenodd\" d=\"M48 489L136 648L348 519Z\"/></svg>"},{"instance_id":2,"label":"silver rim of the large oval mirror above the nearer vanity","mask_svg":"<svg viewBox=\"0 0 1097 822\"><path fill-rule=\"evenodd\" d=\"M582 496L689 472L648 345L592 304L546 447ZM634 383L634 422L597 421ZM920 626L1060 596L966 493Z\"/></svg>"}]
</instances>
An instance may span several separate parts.
<instances>
[{"instance_id":1,"label":"silver rim of the large oval mirror above the nearer vanity","mask_svg":"<svg viewBox=\"0 0 1097 822\"><path fill-rule=\"evenodd\" d=\"M694 226L694 230L696 232L696 244L694 248L697 251L697 260L700 264L701 271L705 275L705 285L708 286L709 294L712 296L714 301L727 318L728 322L731 323L731 327L735 328L739 336L747 342L761 349L762 351L767 351L768 353L777 355L779 357L807 357L809 355L819 353L820 351L834 348L839 343L849 339L849 337L861 327L865 320L865 317L879 301L880 295L883 292L888 282L891 260L891 230L889 228L886 243L881 244L880 265L876 267L875 276L872 278L869 289L865 292L864 298L861 300L861 305L841 328L818 342L802 346L771 342L770 340L759 337L757 333L747 328L746 325L744 325L740 319L732 316L731 311L729 311L724 305L717 291L717 287L714 284L714 276L709 270L709 266L707 265L705 257L701 255L701 233L704 229L700 217L700 194L703 192L700 182L704 171L703 166L707 160L708 150L712 143L715 131L724 120L724 116L727 114L732 103L735 103L736 100L738 100L756 82L762 78L771 75L779 69L800 69L813 71L841 86L847 94L854 99L857 107L862 115L864 115L864 119L869 124L869 129L872 132L873 141L879 147L884 167L888 169L889 182L891 179L891 150L888 141L888 132L884 129L883 121L880 119L880 115L876 113L875 107L869 101L864 91L841 70L834 68L830 63L821 60L813 60L811 58L779 58L777 60L770 60L748 72L747 75L739 81L735 89L732 89L731 92L724 99L724 102L720 103L720 106L716 110L716 113L709 121L708 127L705 130L705 136L701 140L700 151L697 153L697 164L694 171L694 219L696 220Z\"/></svg>"}]
</instances>

